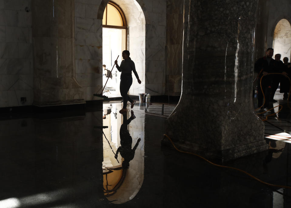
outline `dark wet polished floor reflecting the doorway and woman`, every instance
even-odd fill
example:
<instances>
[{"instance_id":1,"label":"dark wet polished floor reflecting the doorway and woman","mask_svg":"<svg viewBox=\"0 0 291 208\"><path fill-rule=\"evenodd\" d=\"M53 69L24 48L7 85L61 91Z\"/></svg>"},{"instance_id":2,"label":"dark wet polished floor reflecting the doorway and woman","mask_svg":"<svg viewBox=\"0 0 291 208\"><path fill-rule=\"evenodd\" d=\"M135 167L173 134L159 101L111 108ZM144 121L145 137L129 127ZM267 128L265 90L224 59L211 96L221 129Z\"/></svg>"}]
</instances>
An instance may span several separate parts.
<instances>
[{"instance_id":1,"label":"dark wet polished floor reflecting the doorway and woman","mask_svg":"<svg viewBox=\"0 0 291 208\"><path fill-rule=\"evenodd\" d=\"M291 186L290 110L279 103L283 110L265 121L269 150L224 165ZM0 208L291 207L290 189L162 148L174 108L136 102L120 114L120 101L109 101L59 117L3 117Z\"/></svg>"}]
</instances>

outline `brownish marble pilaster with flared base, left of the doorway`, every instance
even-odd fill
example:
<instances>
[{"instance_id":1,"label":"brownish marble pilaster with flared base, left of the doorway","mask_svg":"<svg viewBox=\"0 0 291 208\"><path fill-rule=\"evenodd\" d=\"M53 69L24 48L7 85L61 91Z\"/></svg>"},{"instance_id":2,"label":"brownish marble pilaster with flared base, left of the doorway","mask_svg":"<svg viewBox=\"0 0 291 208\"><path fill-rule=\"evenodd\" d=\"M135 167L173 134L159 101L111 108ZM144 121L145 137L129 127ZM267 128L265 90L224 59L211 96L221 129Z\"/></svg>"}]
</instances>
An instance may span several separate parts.
<instances>
[{"instance_id":1,"label":"brownish marble pilaster with flared base, left of the doorway","mask_svg":"<svg viewBox=\"0 0 291 208\"><path fill-rule=\"evenodd\" d=\"M74 78L74 1L32 0L35 105L83 102Z\"/></svg>"}]
</instances>

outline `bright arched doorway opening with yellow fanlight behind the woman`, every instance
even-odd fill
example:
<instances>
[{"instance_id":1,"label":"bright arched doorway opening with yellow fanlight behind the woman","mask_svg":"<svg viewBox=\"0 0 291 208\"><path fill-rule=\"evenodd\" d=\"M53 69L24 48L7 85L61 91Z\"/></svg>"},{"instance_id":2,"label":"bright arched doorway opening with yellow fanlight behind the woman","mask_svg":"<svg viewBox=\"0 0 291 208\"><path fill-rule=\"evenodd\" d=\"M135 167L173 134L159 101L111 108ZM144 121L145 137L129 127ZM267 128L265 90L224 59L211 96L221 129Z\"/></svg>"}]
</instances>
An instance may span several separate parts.
<instances>
[{"instance_id":1,"label":"bright arched doorway opening with yellow fanlight behind the woman","mask_svg":"<svg viewBox=\"0 0 291 208\"><path fill-rule=\"evenodd\" d=\"M125 15L117 4L109 2L106 5L102 19L102 62L106 65L103 72L103 86L110 74L110 70L114 65L114 60L119 56L119 63L122 60L121 53L127 49L127 23ZM112 75L109 77L105 92L111 94L112 97L119 96L119 79L120 72L113 68Z\"/></svg>"}]
</instances>

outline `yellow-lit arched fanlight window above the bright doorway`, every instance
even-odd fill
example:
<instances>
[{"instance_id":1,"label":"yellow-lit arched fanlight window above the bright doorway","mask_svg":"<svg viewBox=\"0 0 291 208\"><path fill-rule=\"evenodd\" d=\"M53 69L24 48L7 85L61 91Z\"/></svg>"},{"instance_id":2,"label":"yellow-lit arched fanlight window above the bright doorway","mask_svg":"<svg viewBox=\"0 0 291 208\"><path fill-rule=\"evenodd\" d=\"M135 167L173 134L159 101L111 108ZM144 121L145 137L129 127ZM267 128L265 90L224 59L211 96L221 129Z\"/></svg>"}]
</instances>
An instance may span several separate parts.
<instances>
[{"instance_id":1,"label":"yellow-lit arched fanlight window above the bright doorway","mask_svg":"<svg viewBox=\"0 0 291 208\"><path fill-rule=\"evenodd\" d=\"M103 19L103 27L126 29L127 24L122 10L114 2L109 2L105 8Z\"/></svg>"}]
</instances>

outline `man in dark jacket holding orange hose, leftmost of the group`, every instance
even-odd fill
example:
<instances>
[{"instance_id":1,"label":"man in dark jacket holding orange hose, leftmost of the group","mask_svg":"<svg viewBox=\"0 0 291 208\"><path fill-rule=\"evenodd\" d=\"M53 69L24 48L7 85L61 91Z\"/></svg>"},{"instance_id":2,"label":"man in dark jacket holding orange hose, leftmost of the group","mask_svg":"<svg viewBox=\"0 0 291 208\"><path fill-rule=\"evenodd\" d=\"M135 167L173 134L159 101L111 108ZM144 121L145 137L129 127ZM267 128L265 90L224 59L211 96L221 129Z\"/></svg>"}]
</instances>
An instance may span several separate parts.
<instances>
[{"instance_id":1,"label":"man in dark jacket holding orange hose, leftmost of the group","mask_svg":"<svg viewBox=\"0 0 291 208\"><path fill-rule=\"evenodd\" d=\"M272 56L274 54L273 48L268 48L266 50L266 56L259 58L255 62L255 72L258 73L258 107L264 109L264 111L269 111L269 97L271 94L271 86L272 86L272 77L269 75L269 73L273 73L275 71L275 65L276 62L274 59L272 59ZM262 89L260 85L260 80L262 78ZM262 91L263 90L263 91ZM263 92L265 95L265 103L263 105Z\"/></svg>"}]
</instances>

